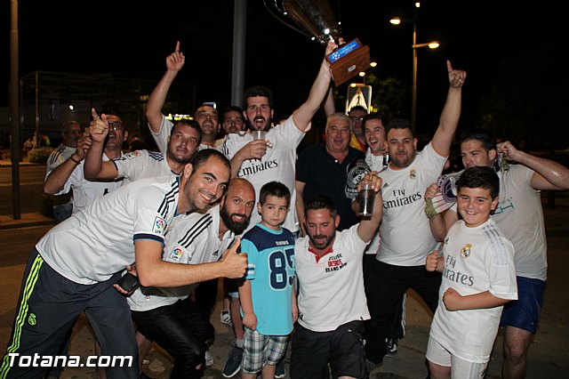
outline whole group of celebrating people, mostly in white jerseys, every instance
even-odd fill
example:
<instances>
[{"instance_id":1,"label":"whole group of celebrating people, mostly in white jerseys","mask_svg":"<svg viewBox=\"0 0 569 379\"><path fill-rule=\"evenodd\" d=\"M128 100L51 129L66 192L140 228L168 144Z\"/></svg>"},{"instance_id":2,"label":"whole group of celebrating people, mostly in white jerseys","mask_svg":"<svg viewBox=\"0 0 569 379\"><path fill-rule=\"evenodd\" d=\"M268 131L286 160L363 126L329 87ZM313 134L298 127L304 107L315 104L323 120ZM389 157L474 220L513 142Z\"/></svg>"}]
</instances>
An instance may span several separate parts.
<instances>
[{"instance_id":1,"label":"whole group of celebrating people, mostly in white jerseys","mask_svg":"<svg viewBox=\"0 0 569 379\"><path fill-rule=\"evenodd\" d=\"M212 365L220 278L235 333L225 377L284 377L290 349L294 379L367 378L397 354L409 288L433 313L431 377L484 377L499 327L502 374L524 377L547 280L540 191L569 189L569 169L467 131L465 169L441 185L466 72L447 62L445 106L419 151L405 119L333 109L325 59L307 100L278 122L264 86L221 117L206 103L170 121L179 43L165 63L146 108L158 151L124 153L116 112L92 109L84 130L63 125L44 191L71 200L28 259L1 377L60 375L62 365L23 363L65 356L84 312L100 355L130 357L100 377L145 377L156 343L174 359L172 378L198 378ZM298 154L321 107L324 141ZM357 212L363 184L371 217Z\"/></svg>"}]
</instances>

